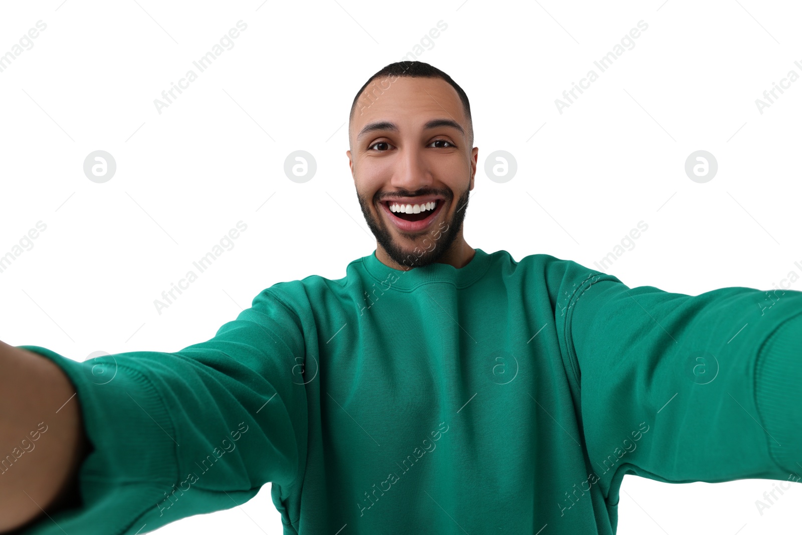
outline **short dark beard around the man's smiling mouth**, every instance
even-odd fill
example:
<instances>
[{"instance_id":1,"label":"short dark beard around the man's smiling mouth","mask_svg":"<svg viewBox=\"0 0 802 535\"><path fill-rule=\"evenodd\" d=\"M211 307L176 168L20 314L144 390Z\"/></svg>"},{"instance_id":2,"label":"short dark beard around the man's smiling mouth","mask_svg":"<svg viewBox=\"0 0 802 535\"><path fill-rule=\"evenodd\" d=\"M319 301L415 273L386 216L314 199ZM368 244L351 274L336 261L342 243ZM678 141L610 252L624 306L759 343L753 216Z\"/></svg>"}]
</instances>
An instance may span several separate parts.
<instances>
[{"instance_id":1,"label":"short dark beard around the man's smiling mouth","mask_svg":"<svg viewBox=\"0 0 802 535\"><path fill-rule=\"evenodd\" d=\"M456 202L456 212L452 215L450 221L445 220L445 223L448 226L445 227L444 231L440 231L439 237L435 238L433 236L429 236L429 241L434 243L434 247L432 247L430 250L426 250L428 249L428 246L424 248L423 246L416 245L419 251L423 250L423 254L421 254L420 257L415 255L415 246L413 246L411 250L407 250L404 249L403 246L395 243L393 234L391 233L391 230L387 228L387 223L384 221L383 217L379 217L378 220L373 217L373 213L371 213L371 205L368 204L363 196L359 194L358 190L356 197L359 200L359 206L362 208L365 221L367 221L367 226L370 227L371 232L376 237L376 241L379 243L379 245L381 245L382 248L387 252L387 256L389 256L392 261L399 265L410 265L411 263L412 267L423 267L424 265L434 264L435 262L439 261L439 259L448 253L448 251L452 248L457 235L460 233L460 229L462 229L462 224L465 220L465 213L468 211L468 198L470 197L470 193L471 190L469 188L465 188L464 192L460 194L460 198L457 199ZM404 194L406 195L406 193ZM443 195L443 197L445 197L445 201L454 200L454 195L450 190L427 190L418 193L419 196L430 194ZM402 237L415 239L416 237L421 237L427 233L431 233L432 230L427 230L420 233L404 233L400 232L398 229L395 229L395 232L399 233Z\"/></svg>"}]
</instances>

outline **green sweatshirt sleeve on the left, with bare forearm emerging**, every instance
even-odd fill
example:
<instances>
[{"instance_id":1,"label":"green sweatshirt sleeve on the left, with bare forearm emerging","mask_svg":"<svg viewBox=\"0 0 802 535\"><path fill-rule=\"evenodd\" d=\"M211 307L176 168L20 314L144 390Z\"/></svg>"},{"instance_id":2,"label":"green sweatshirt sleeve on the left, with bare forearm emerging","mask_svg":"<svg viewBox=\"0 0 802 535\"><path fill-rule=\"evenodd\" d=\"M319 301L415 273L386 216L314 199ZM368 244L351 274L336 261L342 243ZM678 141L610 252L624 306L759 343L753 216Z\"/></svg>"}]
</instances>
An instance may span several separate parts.
<instances>
[{"instance_id":1,"label":"green sweatshirt sleeve on the left, with bare forearm emerging","mask_svg":"<svg viewBox=\"0 0 802 535\"><path fill-rule=\"evenodd\" d=\"M302 480L302 326L270 290L213 338L175 353L81 363L20 347L71 379L92 447L79 469L81 506L43 517L22 535L148 533L240 505L267 482L282 512Z\"/></svg>"}]
</instances>

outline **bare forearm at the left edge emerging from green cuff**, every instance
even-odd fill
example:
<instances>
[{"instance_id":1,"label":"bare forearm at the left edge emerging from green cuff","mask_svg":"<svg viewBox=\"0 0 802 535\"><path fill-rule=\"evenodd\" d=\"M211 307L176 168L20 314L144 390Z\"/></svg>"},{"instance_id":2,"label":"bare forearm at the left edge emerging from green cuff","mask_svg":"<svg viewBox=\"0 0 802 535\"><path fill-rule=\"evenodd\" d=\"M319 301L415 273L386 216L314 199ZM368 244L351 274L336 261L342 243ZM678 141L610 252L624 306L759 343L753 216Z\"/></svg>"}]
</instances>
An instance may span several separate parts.
<instances>
[{"instance_id":1,"label":"bare forearm at the left edge emerging from green cuff","mask_svg":"<svg viewBox=\"0 0 802 535\"><path fill-rule=\"evenodd\" d=\"M51 360L0 342L0 533L74 496L87 451L76 397Z\"/></svg>"}]
</instances>

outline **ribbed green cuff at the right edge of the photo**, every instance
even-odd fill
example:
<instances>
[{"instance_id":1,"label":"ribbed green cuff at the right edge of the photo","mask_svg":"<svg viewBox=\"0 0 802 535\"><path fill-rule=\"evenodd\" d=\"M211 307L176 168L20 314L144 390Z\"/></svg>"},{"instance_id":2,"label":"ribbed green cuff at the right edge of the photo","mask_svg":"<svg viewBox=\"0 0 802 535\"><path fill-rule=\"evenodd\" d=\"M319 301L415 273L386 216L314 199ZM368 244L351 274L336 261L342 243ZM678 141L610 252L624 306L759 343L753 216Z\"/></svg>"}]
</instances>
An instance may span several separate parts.
<instances>
[{"instance_id":1,"label":"ribbed green cuff at the right edge of the photo","mask_svg":"<svg viewBox=\"0 0 802 535\"><path fill-rule=\"evenodd\" d=\"M774 460L802 473L802 315L780 324L760 349L755 398Z\"/></svg>"}]
</instances>

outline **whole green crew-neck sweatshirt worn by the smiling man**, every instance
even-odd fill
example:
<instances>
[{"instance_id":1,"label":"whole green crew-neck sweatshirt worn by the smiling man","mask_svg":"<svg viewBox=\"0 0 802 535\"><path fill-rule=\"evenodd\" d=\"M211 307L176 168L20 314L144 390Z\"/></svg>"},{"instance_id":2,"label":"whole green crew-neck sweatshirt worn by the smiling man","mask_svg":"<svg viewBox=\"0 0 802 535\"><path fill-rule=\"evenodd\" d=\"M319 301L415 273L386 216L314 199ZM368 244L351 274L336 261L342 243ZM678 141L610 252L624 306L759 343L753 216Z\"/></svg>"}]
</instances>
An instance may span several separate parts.
<instances>
[{"instance_id":1,"label":"whole green crew-neck sweatshirt worn by the smiling man","mask_svg":"<svg viewBox=\"0 0 802 535\"><path fill-rule=\"evenodd\" d=\"M503 250L405 271L374 251L175 353L22 347L75 383L94 446L83 505L26 535L147 533L267 482L286 534L608 535L626 474L802 471L797 291L630 288Z\"/></svg>"}]
</instances>

